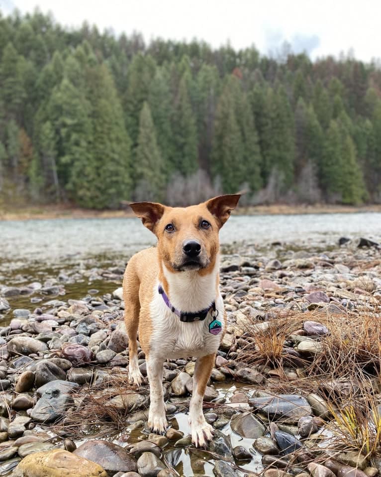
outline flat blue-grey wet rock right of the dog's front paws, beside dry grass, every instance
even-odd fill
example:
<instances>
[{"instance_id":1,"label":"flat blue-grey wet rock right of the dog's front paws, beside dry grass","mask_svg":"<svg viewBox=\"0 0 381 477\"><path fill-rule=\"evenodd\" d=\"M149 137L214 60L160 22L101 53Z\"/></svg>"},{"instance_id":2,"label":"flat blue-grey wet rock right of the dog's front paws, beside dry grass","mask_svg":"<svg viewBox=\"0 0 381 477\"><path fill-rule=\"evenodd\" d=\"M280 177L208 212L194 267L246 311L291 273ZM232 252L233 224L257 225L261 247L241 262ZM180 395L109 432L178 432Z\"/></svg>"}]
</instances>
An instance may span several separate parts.
<instances>
[{"instance_id":1,"label":"flat blue-grey wet rock right of the dog's front paws, beside dry grass","mask_svg":"<svg viewBox=\"0 0 381 477\"><path fill-rule=\"evenodd\" d=\"M249 403L255 410L266 414L270 421L276 417L287 418L288 421L297 422L301 417L312 414L308 401L304 397L293 394L256 397L249 399Z\"/></svg>"}]
</instances>

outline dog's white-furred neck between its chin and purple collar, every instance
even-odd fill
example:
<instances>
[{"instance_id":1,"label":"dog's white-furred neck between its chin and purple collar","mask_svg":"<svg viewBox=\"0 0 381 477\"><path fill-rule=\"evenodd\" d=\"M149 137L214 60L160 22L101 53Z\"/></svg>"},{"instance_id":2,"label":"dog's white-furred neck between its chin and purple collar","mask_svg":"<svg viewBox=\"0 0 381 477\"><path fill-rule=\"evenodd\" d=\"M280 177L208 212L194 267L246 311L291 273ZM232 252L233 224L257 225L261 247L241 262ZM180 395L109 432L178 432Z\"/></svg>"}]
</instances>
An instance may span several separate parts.
<instances>
[{"instance_id":1,"label":"dog's white-furred neck between its chin and purple collar","mask_svg":"<svg viewBox=\"0 0 381 477\"><path fill-rule=\"evenodd\" d=\"M218 294L219 255L210 273L201 275L196 270L173 273L164 263L161 266L162 286L172 305L180 311L197 312L211 305Z\"/></svg>"}]
</instances>

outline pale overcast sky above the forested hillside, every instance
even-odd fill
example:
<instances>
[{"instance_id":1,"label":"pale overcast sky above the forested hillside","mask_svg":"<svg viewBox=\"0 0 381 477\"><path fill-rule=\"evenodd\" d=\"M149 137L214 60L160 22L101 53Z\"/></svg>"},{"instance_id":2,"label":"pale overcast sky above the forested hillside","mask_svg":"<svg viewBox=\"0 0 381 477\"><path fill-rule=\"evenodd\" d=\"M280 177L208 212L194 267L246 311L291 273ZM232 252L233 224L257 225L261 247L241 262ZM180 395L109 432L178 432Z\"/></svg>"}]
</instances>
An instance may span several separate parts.
<instances>
[{"instance_id":1,"label":"pale overcast sky above the forested hillside","mask_svg":"<svg viewBox=\"0 0 381 477\"><path fill-rule=\"evenodd\" d=\"M38 6L57 21L162 38L203 39L218 47L253 43L262 53L286 40L312 58L348 52L364 61L381 57L381 0L0 0L0 10Z\"/></svg>"}]
</instances>

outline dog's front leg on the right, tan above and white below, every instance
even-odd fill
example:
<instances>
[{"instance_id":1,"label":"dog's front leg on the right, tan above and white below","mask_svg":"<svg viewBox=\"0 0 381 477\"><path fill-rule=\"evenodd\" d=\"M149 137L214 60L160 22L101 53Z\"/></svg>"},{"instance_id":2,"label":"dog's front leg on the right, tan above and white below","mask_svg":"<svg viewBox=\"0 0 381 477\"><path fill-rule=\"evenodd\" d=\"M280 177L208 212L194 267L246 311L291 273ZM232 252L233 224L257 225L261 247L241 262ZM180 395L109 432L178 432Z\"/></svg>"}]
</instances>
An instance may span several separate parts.
<instances>
[{"instance_id":1,"label":"dog's front leg on the right, tan above and white below","mask_svg":"<svg viewBox=\"0 0 381 477\"><path fill-rule=\"evenodd\" d=\"M189 421L191 424L192 443L204 447L213 439L213 428L205 421L202 412L202 400L206 384L213 369L215 354L203 356L196 360L193 375L193 394L191 397Z\"/></svg>"}]
</instances>

